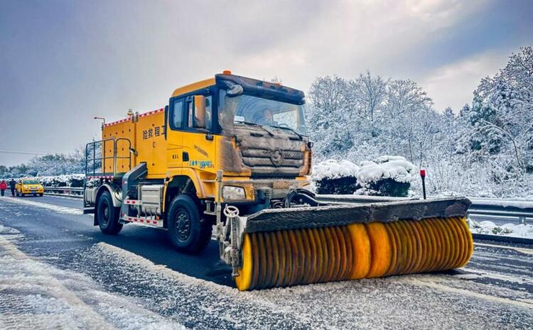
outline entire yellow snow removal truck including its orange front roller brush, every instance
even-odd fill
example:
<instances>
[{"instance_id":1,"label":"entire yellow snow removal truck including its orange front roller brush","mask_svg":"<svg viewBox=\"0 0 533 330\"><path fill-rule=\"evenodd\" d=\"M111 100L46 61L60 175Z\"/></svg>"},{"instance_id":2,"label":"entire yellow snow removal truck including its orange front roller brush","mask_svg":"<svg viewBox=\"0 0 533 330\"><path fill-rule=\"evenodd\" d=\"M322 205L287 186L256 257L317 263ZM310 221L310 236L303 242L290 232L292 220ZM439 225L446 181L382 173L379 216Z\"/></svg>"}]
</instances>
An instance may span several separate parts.
<instances>
[{"instance_id":1,"label":"entire yellow snow removal truck including its orange front roller brush","mask_svg":"<svg viewBox=\"0 0 533 330\"><path fill-rule=\"evenodd\" d=\"M84 212L213 238L239 290L458 268L473 241L465 198L325 204L308 189L303 92L232 75L176 89L164 109L102 126L87 144Z\"/></svg>"}]
</instances>

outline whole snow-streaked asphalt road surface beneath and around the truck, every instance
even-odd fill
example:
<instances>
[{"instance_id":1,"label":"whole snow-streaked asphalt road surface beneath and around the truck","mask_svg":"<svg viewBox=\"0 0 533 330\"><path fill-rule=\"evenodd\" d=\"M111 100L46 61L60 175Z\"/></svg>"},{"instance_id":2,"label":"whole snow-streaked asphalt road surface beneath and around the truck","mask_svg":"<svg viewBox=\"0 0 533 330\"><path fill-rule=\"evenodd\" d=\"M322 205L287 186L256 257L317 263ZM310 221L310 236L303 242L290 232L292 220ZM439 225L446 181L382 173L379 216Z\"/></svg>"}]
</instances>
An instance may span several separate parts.
<instances>
[{"instance_id":1,"label":"whole snow-streaked asphalt road surface beneath and around the truck","mask_svg":"<svg viewBox=\"0 0 533 330\"><path fill-rule=\"evenodd\" d=\"M476 242L446 273L238 292L212 242L106 236L80 199L0 197L0 329L532 329L533 249Z\"/></svg>"}]
</instances>

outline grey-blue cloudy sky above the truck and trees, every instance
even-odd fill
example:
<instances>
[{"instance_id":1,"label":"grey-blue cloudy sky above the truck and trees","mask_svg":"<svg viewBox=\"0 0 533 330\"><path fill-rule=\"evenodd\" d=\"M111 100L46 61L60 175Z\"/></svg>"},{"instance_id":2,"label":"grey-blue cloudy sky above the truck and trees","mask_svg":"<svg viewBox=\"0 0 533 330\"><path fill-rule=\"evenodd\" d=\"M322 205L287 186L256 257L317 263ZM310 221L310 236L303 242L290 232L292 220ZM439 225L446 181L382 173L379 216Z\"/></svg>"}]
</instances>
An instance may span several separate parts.
<instances>
[{"instance_id":1,"label":"grey-blue cloudy sky above the truck and trees","mask_svg":"<svg viewBox=\"0 0 533 330\"><path fill-rule=\"evenodd\" d=\"M225 69L305 92L370 70L459 109L533 44L532 17L529 0L0 0L0 164L69 153L93 116L161 108Z\"/></svg>"}]
</instances>

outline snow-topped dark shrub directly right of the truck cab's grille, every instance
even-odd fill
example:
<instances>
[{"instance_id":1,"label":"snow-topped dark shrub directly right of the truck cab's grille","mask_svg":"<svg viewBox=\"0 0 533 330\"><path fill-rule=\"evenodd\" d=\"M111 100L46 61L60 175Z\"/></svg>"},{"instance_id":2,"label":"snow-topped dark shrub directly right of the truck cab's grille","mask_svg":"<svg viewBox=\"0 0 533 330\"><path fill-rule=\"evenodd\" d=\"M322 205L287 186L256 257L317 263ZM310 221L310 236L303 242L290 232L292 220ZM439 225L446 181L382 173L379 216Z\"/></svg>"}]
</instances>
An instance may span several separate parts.
<instances>
[{"instance_id":1,"label":"snow-topped dark shrub directly right of the truck cab's grille","mask_svg":"<svg viewBox=\"0 0 533 330\"><path fill-rule=\"evenodd\" d=\"M359 166L348 160L328 159L313 166L311 180L317 194L353 194L357 185Z\"/></svg>"}]
</instances>

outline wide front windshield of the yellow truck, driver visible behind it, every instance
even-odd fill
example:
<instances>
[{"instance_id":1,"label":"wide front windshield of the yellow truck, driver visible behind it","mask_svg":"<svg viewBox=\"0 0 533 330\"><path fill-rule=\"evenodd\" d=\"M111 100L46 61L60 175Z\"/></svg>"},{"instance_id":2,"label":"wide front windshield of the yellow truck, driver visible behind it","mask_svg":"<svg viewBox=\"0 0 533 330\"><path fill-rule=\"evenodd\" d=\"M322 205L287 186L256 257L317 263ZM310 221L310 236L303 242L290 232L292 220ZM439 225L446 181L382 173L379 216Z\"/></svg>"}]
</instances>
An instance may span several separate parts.
<instances>
[{"instance_id":1,"label":"wide front windshield of the yellow truck, driver visible behind it","mask_svg":"<svg viewBox=\"0 0 533 330\"><path fill-rule=\"evenodd\" d=\"M290 128L298 134L307 135L303 120L303 106L273 99L262 99L241 94L228 97L220 91L218 116L220 125L230 128L247 123L278 128Z\"/></svg>"}]
</instances>

